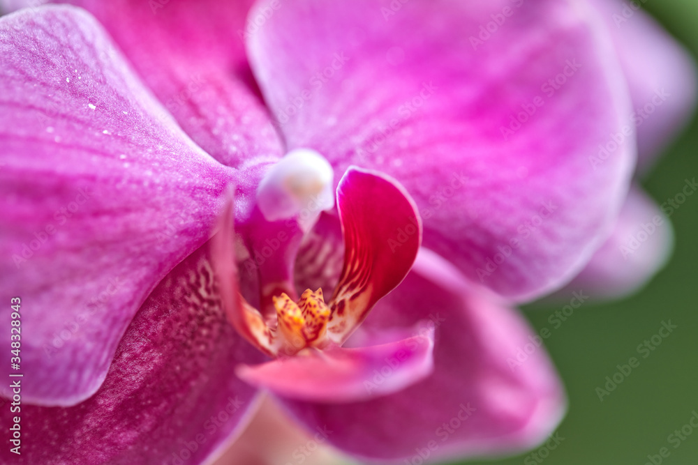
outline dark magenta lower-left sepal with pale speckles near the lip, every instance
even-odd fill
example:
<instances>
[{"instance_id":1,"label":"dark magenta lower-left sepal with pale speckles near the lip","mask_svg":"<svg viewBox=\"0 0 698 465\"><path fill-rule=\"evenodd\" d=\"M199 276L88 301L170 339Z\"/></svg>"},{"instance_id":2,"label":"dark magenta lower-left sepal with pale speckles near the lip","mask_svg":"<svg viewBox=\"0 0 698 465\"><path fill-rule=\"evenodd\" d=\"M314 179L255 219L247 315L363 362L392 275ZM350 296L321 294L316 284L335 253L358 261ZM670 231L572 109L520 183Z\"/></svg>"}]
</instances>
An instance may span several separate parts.
<instances>
[{"instance_id":1,"label":"dark magenta lower-left sepal with pale speckles near the lip","mask_svg":"<svg viewBox=\"0 0 698 465\"><path fill-rule=\"evenodd\" d=\"M5 441L0 462L201 464L225 450L256 404L255 390L235 377L234 367L262 356L225 320L206 250L174 268L149 296L93 397L68 408L30 406L22 398L22 455ZM26 370L22 386L38 375ZM12 425L13 415L4 406L3 425Z\"/></svg>"}]
</instances>

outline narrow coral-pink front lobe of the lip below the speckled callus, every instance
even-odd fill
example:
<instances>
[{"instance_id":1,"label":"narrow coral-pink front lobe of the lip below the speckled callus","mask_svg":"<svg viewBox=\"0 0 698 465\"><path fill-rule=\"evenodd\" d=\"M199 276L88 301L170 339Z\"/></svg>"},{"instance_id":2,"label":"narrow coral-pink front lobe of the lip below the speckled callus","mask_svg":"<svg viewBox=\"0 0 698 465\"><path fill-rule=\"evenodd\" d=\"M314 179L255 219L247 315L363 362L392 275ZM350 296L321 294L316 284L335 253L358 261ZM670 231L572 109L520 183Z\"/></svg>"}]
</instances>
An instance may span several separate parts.
<instances>
[{"instance_id":1,"label":"narrow coral-pink front lobe of the lip below the speckled callus","mask_svg":"<svg viewBox=\"0 0 698 465\"><path fill-rule=\"evenodd\" d=\"M357 402L397 392L431 374L433 330L414 330L387 344L332 347L262 365L242 365L237 375L276 395L311 402Z\"/></svg>"}]
</instances>

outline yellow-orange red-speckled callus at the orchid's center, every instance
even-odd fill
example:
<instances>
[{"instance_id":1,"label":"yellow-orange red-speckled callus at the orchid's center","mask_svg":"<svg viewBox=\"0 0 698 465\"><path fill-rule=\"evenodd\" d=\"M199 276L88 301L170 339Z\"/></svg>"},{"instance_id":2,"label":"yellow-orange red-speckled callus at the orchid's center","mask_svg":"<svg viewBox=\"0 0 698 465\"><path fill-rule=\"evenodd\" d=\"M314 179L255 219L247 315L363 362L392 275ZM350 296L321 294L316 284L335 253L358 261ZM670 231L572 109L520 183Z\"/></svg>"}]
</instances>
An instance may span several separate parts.
<instances>
[{"instance_id":1,"label":"yellow-orange red-speckled callus at the orchid's center","mask_svg":"<svg viewBox=\"0 0 698 465\"><path fill-rule=\"evenodd\" d=\"M295 353L306 347L317 347L325 342L329 307L322 298L322 289L306 289L297 302L282 293L274 297L279 318L279 332L285 339L285 352Z\"/></svg>"}]
</instances>

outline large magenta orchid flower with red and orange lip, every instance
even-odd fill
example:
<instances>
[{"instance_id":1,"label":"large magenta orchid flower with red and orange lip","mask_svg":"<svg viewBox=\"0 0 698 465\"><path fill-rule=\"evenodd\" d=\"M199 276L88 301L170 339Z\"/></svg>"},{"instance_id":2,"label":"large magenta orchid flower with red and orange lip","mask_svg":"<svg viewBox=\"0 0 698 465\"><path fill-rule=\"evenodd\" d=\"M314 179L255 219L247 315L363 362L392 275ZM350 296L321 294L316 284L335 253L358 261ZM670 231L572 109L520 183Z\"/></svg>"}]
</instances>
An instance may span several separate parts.
<instances>
[{"instance_id":1,"label":"large magenta orchid flower with red and orange lip","mask_svg":"<svg viewBox=\"0 0 698 465\"><path fill-rule=\"evenodd\" d=\"M210 462L260 392L369 462L554 431L513 307L611 234L645 90L595 2L3 3L3 462Z\"/></svg>"}]
</instances>

